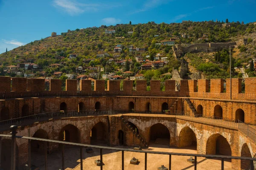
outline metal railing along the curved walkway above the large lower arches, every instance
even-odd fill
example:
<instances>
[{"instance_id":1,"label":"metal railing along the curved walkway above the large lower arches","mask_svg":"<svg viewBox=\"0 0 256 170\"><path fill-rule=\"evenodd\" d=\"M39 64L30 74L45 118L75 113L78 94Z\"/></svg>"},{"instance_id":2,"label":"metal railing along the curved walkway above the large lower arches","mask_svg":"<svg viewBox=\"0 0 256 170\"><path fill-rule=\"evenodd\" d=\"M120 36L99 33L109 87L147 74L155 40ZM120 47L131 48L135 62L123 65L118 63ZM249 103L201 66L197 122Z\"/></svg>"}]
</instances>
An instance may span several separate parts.
<instances>
[{"instance_id":1,"label":"metal railing along the curved walkway above the large lower arches","mask_svg":"<svg viewBox=\"0 0 256 170\"><path fill-rule=\"evenodd\" d=\"M202 114L191 115L183 111L175 111L175 113L163 111L133 111L129 110L83 110L83 111L58 111L34 114L15 119L0 121L0 131L8 130L11 125L25 126L32 125L35 122L44 122L52 119L85 117L85 116L149 116L149 117L173 117L186 121L204 123L207 125L215 125L219 127L227 127L238 129L250 139L256 142L256 130L250 125L239 120L232 121L227 119L216 119L216 117L207 117Z\"/></svg>"}]
</instances>

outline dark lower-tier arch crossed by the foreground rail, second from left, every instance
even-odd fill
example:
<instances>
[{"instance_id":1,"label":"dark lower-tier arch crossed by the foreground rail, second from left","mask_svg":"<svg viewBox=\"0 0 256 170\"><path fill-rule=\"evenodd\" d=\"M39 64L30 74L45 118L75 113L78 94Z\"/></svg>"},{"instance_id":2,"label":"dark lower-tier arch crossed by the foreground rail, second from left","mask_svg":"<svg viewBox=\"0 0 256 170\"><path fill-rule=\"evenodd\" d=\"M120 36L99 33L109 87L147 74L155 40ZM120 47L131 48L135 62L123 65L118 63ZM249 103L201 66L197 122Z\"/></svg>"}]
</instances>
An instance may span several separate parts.
<instances>
[{"instance_id":1,"label":"dark lower-tier arch crossed by the foreground rail, second from left","mask_svg":"<svg viewBox=\"0 0 256 170\"><path fill-rule=\"evenodd\" d=\"M33 138L49 139L48 134L45 130L38 129ZM47 151L48 151L48 142L47 142ZM31 153L39 153L40 155L44 153L44 142L38 140L31 140Z\"/></svg>"}]
</instances>

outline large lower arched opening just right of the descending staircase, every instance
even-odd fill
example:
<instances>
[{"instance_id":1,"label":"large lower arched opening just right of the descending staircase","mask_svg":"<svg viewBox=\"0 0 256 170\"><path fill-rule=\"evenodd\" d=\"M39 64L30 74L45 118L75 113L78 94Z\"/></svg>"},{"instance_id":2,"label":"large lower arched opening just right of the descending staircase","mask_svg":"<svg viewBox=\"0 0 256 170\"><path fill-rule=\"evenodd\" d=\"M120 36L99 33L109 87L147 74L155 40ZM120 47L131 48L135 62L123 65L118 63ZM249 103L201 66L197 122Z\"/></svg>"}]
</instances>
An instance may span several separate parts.
<instances>
[{"instance_id":1,"label":"large lower arched opening just right of the descending staircase","mask_svg":"<svg viewBox=\"0 0 256 170\"><path fill-rule=\"evenodd\" d=\"M169 129L160 123L157 123L150 127L149 137L151 143L154 144L170 144L170 131Z\"/></svg>"}]
</instances>

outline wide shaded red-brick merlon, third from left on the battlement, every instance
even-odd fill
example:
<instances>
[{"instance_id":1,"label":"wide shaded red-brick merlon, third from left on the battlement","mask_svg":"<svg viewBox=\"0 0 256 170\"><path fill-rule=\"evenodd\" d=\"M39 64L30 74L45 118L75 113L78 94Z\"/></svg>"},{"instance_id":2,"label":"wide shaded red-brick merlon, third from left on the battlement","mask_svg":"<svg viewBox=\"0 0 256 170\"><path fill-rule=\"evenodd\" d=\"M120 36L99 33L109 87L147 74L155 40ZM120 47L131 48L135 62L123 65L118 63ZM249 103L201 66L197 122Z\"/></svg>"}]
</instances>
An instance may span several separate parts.
<instances>
[{"instance_id":1,"label":"wide shaded red-brick merlon, third from left on the battlement","mask_svg":"<svg viewBox=\"0 0 256 170\"><path fill-rule=\"evenodd\" d=\"M27 91L44 91L44 90L45 90L44 79L35 79L35 78L27 79Z\"/></svg>"}]
</instances>

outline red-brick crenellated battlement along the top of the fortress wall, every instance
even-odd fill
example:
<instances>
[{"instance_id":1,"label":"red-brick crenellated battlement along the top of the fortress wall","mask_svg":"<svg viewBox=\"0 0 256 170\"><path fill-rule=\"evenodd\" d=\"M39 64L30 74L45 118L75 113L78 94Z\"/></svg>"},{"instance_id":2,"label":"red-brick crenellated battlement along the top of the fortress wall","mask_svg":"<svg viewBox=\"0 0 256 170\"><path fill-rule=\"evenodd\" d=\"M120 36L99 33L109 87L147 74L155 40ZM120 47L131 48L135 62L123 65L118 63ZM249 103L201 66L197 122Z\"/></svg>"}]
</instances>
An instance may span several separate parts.
<instances>
[{"instance_id":1,"label":"red-brick crenellated battlement along the top of the fortress wall","mask_svg":"<svg viewBox=\"0 0 256 170\"><path fill-rule=\"evenodd\" d=\"M15 98L12 93L20 93L23 96L26 93L37 92L47 93L47 96L54 96L59 92L78 92L80 91L85 96L101 92L104 95L121 95L121 96L188 96L188 97L207 97L230 99L230 79L198 79L198 80L181 80L180 91L175 91L175 80L166 80L164 82L165 90L161 91L160 80L150 81L150 90L147 91L147 81L137 80L136 87L132 80L123 80L122 89L120 88L119 80L108 80L105 85L105 80L95 80L94 89L92 88L91 80L81 80L80 90L78 90L78 82L76 79L66 80L66 90L62 91L61 79L50 79L49 91L45 90L44 79L40 78L20 78L20 77L0 77L0 93L4 93L3 99ZM224 85L225 84L225 85ZM245 79L245 89L242 93L242 79L232 79L232 99L253 99L256 96L256 78ZM105 88L107 87L107 88ZM226 88L224 88L226 87ZM224 90L225 89L225 90ZM103 93L104 92L104 93ZM8 93L8 94L7 94ZM11 95L9 97L8 95ZM99 95L99 94L98 94ZM44 96L44 95L42 95Z\"/></svg>"}]
</instances>

